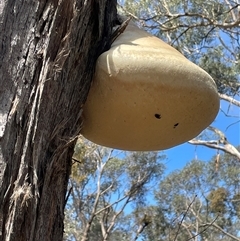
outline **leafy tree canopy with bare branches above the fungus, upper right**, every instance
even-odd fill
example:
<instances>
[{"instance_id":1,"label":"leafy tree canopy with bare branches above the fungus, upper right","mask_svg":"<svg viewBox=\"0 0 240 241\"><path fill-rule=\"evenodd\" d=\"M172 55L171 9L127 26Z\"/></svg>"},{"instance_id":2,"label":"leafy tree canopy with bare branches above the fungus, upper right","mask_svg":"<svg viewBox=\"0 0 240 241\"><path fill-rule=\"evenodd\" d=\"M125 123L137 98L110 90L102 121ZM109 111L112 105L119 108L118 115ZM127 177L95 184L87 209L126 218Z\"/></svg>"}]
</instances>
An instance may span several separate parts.
<instances>
[{"instance_id":1,"label":"leafy tree canopy with bare branches above the fungus, upper right","mask_svg":"<svg viewBox=\"0 0 240 241\"><path fill-rule=\"evenodd\" d=\"M127 0L123 13L200 65L220 93L239 90L239 4L237 1Z\"/></svg>"}]
</instances>

